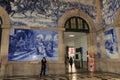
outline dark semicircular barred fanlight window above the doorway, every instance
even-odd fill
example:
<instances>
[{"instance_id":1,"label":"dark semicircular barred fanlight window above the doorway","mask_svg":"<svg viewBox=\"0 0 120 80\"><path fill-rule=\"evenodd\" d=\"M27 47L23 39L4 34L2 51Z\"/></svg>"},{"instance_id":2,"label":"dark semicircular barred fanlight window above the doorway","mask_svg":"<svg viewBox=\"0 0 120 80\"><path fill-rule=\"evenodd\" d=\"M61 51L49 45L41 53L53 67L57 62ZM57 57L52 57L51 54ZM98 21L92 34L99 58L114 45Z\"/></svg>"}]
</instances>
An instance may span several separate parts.
<instances>
[{"instance_id":1,"label":"dark semicircular barred fanlight window above the doorway","mask_svg":"<svg viewBox=\"0 0 120 80\"><path fill-rule=\"evenodd\" d=\"M70 17L64 25L66 32L89 32L88 23L81 17Z\"/></svg>"}]
</instances>

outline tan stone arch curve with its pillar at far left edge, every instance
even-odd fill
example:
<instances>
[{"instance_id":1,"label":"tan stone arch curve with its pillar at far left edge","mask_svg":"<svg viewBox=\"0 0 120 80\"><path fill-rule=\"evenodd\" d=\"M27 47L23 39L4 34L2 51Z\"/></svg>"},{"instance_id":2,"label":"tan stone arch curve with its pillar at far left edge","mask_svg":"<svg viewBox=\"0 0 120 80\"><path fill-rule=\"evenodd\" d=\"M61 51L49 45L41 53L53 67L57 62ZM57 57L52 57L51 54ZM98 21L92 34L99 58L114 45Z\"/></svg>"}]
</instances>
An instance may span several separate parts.
<instances>
[{"instance_id":1,"label":"tan stone arch curve with its pillar at far left edge","mask_svg":"<svg viewBox=\"0 0 120 80\"><path fill-rule=\"evenodd\" d=\"M5 65L8 61L8 44L9 44L9 33L10 33L10 18L4 8L0 7L0 16L2 18L2 38L0 47L0 57L1 57L1 72L0 76L4 76Z\"/></svg>"}]
</instances>

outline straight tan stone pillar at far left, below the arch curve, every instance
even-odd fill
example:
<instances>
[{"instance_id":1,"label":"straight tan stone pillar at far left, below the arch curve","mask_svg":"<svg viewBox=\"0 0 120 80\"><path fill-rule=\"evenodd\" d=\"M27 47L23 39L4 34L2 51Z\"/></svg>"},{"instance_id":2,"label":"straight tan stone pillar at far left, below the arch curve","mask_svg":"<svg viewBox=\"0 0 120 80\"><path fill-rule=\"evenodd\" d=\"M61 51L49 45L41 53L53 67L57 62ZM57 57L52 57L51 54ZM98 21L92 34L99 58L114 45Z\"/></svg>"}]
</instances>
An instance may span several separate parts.
<instances>
[{"instance_id":1,"label":"straight tan stone pillar at far left, below the arch curve","mask_svg":"<svg viewBox=\"0 0 120 80\"><path fill-rule=\"evenodd\" d=\"M1 40L1 57L2 57L1 76L5 76L5 68L8 62L9 33L10 29L3 28Z\"/></svg>"}]
</instances>

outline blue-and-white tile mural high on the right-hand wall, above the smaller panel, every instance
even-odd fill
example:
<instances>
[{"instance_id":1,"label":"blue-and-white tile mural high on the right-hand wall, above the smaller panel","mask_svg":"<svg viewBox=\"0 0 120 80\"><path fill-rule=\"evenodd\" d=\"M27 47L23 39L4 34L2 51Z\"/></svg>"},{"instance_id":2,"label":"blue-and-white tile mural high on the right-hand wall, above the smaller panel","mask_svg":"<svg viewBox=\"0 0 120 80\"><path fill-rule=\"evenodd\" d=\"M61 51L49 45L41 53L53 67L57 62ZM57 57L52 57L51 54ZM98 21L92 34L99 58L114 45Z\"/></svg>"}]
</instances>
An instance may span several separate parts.
<instances>
[{"instance_id":1,"label":"blue-and-white tile mural high on the right-hand wall, above the smaller panel","mask_svg":"<svg viewBox=\"0 0 120 80\"><path fill-rule=\"evenodd\" d=\"M100 0L102 5L103 25L108 26L115 20L115 14L120 8L120 0Z\"/></svg>"}]
</instances>

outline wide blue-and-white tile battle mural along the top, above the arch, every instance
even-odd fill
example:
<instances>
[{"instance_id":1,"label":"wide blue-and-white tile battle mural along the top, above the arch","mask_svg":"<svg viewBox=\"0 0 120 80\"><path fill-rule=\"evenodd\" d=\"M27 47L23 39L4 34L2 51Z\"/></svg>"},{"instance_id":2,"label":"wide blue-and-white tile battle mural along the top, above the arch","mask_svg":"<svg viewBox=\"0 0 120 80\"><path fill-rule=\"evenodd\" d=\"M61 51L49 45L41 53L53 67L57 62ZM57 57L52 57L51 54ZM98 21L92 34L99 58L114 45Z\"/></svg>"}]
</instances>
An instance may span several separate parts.
<instances>
[{"instance_id":1,"label":"wide blue-and-white tile battle mural along the top, above the arch","mask_svg":"<svg viewBox=\"0 0 120 80\"><path fill-rule=\"evenodd\" d=\"M62 14L72 9L81 9L91 18L96 18L94 5L85 5L72 0L0 0L0 5L10 15L11 25L58 27Z\"/></svg>"}]
</instances>

